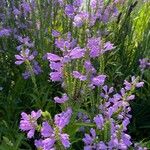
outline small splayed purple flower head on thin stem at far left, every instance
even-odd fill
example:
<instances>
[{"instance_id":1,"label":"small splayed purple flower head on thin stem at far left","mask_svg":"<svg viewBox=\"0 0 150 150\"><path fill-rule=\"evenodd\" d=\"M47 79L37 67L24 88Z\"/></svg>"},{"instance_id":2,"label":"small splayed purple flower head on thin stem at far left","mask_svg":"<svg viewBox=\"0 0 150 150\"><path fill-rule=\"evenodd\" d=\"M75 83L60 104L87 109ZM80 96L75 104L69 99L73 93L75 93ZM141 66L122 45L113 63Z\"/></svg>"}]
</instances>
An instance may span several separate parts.
<instances>
[{"instance_id":1,"label":"small splayed purple flower head on thin stem at far left","mask_svg":"<svg viewBox=\"0 0 150 150\"><path fill-rule=\"evenodd\" d=\"M33 55L29 55L30 50L26 49L26 50L22 50L20 52L20 55L15 55L17 61L15 62L16 65L21 65L23 62L25 62L26 60L33 60L34 56Z\"/></svg>"}]
</instances>

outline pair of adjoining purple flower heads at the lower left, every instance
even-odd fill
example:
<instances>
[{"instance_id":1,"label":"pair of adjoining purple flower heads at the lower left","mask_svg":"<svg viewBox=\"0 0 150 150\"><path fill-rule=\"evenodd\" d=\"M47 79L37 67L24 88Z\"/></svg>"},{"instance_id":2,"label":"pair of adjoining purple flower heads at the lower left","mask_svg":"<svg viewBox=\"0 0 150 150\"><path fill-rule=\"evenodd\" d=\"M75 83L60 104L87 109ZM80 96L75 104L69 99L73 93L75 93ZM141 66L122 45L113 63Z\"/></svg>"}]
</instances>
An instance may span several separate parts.
<instances>
[{"instance_id":1,"label":"pair of adjoining purple flower heads at the lower left","mask_svg":"<svg viewBox=\"0 0 150 150\"><path fill-rule=\"evenodd\" d=\"M59 146L63 145L65 148L68 148L70 147L69 135L64 133L63 129L68 125L71 115L72 109L67 108L66 111L55 115L54 123L49 117L48 120L43 118L44 121L42 125L40 125L38 119L42 116L44 117L45 112L41 110L37 112L32 111L31 115L27 115L23 112L21 114L20 129L27 132L28 138L34 137L35 131L38 132L40 139L35 140L35 146L38 149L55 149L56 142ZM50 116L49 113L48 116Z\"/></svg>"}]
</instances>

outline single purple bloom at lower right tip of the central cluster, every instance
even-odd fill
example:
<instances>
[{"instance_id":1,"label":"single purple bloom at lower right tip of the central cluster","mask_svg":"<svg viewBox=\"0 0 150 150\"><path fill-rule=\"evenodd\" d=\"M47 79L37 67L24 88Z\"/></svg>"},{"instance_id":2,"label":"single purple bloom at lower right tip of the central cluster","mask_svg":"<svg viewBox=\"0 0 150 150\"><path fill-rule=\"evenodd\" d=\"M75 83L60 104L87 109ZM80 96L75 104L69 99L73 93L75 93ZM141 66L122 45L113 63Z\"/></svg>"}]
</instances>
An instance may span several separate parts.
<instances>
[{"instance_id":1,"label":"single purple bloom at lower right tip of the central cluster","mask_svg":"<svg viewBox=\"0 0 150 150\"><path fill-rule=\"evenodd\" d=\"M105 82L106 76L105 75L99 75L92 78L92 84L96 86L102 86Z\"/></svg>"}]
</instances>

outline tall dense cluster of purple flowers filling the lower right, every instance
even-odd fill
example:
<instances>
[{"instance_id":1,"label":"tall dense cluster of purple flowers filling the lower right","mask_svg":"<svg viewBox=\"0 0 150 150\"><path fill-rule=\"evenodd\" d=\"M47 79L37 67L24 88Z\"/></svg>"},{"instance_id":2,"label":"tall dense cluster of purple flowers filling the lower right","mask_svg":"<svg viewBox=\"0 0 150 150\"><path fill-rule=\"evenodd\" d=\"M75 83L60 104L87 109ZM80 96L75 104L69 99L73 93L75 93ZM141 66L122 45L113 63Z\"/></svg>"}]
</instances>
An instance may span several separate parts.
<instances>
[{"instance_id":1,"label":"tall dense cluster of purple flowers filling the lower right","mask_svg":"<svg viewBox=\"0 0 150 150\"><path fill-rule=\"evenodd\" d=\"M138 78L132 77L131 82L125 80L125 87L115 94L113 87L103 86L100 113L93 119L96 129L91 128L90 134L85 134L83 138L85 150L127 150L132 145L131 137L126 133L131 118L129 101L135 98L132 94L135 88L143 84L138 82Z\"/></svg>"}]
</instances>

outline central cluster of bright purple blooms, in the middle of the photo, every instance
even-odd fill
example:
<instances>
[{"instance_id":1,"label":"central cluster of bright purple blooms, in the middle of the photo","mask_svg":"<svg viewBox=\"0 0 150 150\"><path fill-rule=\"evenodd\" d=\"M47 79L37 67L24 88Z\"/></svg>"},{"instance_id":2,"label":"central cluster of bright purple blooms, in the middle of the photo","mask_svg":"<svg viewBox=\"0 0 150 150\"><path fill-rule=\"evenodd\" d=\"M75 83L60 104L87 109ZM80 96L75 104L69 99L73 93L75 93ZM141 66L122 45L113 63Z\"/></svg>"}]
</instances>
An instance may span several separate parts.
<instances>
[{"instance_id":1,"label":"central cluster of bright purple blooms, in the middle of the photo","mask_svg":"<svg viewBox=\"0 0 150 150\"><path fill-rule=\"evenodd\" d=\"M55 37L57 36L58 32L56 33L55 31ZM96 86L103 85L106 76L93 76L93 74L96 74L96 70L92 66L90 59L87 58L99 57L105 52L114 49L115 47L111 42L104 43L100 40L100 38L92 37L89 38L87 46L85 48L81 48L80 46L76 46L76 40L71 38L70 33L68 33L67 39L58 38L56 39L55 44L56 47L62 51L63 56L61 57L53 53L47 53L47 59L50 62L50 68L52 70L50 73L50 79L52 81L62 81L63 78L65 78L65 67L76 59L84 59L84 68L87 75L83 75L79 72L79 70L72 69L73 77L81 81L85 81L87 80L90 72L92 74L90 77L90 84Z\"/></svg>"}]
</instances>

